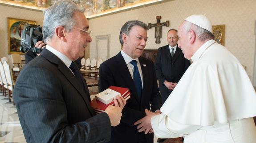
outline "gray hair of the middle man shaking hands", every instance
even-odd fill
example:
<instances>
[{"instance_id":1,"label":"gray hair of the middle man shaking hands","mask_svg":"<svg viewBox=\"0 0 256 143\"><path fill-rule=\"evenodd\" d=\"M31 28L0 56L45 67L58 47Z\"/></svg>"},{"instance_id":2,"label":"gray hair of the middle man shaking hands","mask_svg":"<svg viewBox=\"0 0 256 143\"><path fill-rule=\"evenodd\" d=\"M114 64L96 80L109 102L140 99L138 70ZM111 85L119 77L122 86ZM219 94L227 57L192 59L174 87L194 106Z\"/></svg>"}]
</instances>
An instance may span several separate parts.
<instances>
[{"instance_id":1,"label":"gray hair of the middle man shaking hands","mask_svg":"<svg viewBox=\"0 0 256 143\"><path fill-rule=\"evenodd\" d=\"M126 22L122 26L121 31L120 31L120 35L119 35L119 40L120 40L120 43L121 43L122 46L123 46L123 43L124 43L123 40L122 40L122 35L123 34L128 35L131 28L134 27L134 26L139 26L139 27L144 28L145 30L148 30L148 26L146 25L146 23L143 23L141 21L131 20L131 21Z\"/></svg>"}]
</instances>

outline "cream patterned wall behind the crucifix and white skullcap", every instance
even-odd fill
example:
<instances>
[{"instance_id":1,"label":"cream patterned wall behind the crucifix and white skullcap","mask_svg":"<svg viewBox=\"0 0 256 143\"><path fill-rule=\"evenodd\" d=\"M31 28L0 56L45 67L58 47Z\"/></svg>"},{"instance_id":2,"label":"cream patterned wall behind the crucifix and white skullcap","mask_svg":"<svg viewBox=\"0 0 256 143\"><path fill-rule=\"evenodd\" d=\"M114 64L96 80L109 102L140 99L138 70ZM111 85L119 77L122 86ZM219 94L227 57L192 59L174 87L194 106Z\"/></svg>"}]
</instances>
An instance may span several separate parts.
<instances>
[{"instance_id":1,"label":"cream patterned wall behind the crucifix and white skullcap","mask_svg":"<svg viewBox=\"0 0 256 143\"><path fill-rule=\"evenodd\" d=\"M155 43L154 29L148 31L146 49L157 49L167 44L167 31L178 28L187 16L207 14L213 25L225 24L225 46L239 61L247 66L247 73L252 80L255 35L254 22L256 0L174 0L131 11L107 15L89 20L92 28L90 57L95 58L95 36L110 34L110 57L120 49L118 35L122 25L128 20L141 20L145 23L156 23L155 17L162 16L161 22L170 21L170 27L163 27L160 44Z\"/></svg>"}]
</instances>

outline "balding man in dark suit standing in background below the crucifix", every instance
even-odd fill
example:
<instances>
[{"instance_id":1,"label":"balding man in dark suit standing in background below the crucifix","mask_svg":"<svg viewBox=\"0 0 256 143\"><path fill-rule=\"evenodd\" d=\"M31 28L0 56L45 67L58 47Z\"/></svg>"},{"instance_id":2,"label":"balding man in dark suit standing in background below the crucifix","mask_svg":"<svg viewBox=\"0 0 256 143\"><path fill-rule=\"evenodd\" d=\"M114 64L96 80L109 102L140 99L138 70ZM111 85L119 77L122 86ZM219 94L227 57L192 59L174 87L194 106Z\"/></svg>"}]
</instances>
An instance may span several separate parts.
<instances>
[{"instance_id":1,"label":"balding man in dark suit standing in background below the crucifix","mask_svg":"<svg viewBox=\"0 0 256 143\"><path fill-rule=\"evenodd\" d=\"M167 32L167 41L168 45L158 48L154 63L156 77L159 80L162 104L190 66L190 61L184 58L182 50L178 47L176 29L170 29Z\"/></svg>"}]
</instances>

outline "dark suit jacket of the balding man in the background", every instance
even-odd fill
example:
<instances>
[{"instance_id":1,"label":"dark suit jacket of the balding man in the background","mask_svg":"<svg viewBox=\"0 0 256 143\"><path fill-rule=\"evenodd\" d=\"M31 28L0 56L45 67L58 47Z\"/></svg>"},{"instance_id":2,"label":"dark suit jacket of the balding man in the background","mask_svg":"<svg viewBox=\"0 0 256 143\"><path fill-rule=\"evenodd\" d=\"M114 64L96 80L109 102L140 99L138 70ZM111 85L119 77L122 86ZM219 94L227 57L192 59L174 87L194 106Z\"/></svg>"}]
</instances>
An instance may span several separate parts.
<instances>
[{"instance_id":1,"label":"dark suit jacket of the balding man in the background","mask_svg":"<svg viewBox=\"0 0 256 143\"><path fill-rule=\"evenodd\" d=\"M190 66L190 61L184 58L182 50L178 47L173 58L171 57L169 45L160 47L155 59L155 72L159 80L159 90L161 95L170 95L172 90L167 89L163 82L179 82L187 68Z\"/></svg>"}]
</instances>

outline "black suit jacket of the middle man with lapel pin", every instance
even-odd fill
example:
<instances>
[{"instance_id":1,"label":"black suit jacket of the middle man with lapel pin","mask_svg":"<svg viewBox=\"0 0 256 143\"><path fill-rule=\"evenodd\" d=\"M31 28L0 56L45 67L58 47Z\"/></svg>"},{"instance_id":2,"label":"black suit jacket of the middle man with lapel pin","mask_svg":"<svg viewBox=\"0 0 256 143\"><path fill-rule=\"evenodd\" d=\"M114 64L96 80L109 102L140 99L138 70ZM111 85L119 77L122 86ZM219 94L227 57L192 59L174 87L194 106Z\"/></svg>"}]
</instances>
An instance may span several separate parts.
<instances>
[{"instance_id":1,"label":"black suit jacket of the middle man with lapel pin","mask_svg":"<svg viewBox=\"0 0 256 143\"><path fill-rule=\"evenodd\" d=\"M131 98L122 111L121 122L117 127L112 128L111 143L137 143L144 133L138 133L134 122L145 116L145 109L155 110L161 107L161 96L152 61L140 57L143 75L142 97L139 100L133 79L130 75L126 62L121 52L109 60L103 62L99 68L99 91L107 89L110 85L129 88ZM143 66L146 65L146 66ZM146 135L147 143L153 143L153 134Z\"/></svg>"}]
</instances>

